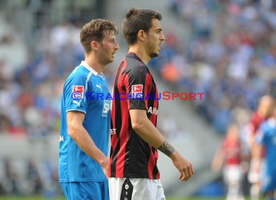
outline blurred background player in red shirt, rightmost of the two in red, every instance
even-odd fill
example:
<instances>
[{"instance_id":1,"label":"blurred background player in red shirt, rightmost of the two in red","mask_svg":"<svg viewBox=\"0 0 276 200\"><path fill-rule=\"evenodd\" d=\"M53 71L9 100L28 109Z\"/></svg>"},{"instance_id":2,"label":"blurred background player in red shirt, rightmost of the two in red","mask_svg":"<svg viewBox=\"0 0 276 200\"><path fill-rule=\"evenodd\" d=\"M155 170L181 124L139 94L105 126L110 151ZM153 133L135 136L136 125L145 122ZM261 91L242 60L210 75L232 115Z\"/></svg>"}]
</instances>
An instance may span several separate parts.
<instances>
[{"instance_id":1,"label":"blurred background player in red shirt, rightmost of the two in red","mask_svg":"<svg viewBox=\"0 0 276 200\"><path fill-rule=\"evenodd\" d=\"M259 105L257 110L252 114L249 127L250 127L250 133L248 136L248 145L251 149L251 154L254 157L255 154L255 135L257 130L259 129L262 122L264 122L266 119L268 119L270 116L270 108L273 104L273 98L269 95L264 95L259 100ZM265 152L263 151L262 157L264 157ZM251 183L250 188L250 197L251 200L259 200L260 196L260 186L261 186L261 175L260 171L258 170L259 167L256 167L257 163L254 161L254 159L251 159L250 161L250 169L248 172L248 181Z\"/></svg>"}]
</instances>

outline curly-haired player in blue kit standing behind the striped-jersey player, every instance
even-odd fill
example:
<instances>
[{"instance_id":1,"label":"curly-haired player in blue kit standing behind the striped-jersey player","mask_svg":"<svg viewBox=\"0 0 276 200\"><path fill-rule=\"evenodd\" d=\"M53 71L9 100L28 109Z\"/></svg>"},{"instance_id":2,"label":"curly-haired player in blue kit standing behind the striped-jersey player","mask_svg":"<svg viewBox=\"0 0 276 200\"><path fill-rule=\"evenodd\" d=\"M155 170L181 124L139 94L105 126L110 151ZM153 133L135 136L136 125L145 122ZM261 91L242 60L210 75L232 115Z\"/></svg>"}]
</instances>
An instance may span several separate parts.
<instances>
[{"instance_id":1,"label":"curly-haired player in blue kit standing behind the striped-jersey player","mask_svg":"<svg viewBox=\"0 0 276 200\"><path fill-rule=\"evenodd\" d=\"M102 71L119 49L117 33L109 20L94 19L85 24L80 32L85 60L63 87L59 179L67 200L109 200L110 100Z\"/></svg>"}]
</instances>

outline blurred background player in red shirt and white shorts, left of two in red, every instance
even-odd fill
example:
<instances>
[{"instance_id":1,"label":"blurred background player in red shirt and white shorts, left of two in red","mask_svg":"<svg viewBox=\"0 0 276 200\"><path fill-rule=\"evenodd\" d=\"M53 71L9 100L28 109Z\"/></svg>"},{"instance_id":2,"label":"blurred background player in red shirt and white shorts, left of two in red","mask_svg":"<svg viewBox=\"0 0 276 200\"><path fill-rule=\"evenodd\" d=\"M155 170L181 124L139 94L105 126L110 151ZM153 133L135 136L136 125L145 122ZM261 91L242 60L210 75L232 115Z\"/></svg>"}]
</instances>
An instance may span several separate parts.
<instances>
[{"instance_id":1,"label":"blurred background player in red shirt and white shorts, left of two in red","mask_svg":"<svg viewBox=\"0 0 276 200\"><path fill-rule=\"evenodd\" d=\"M223 167L223 180L227 184L226 200L244 200L241 191L242 181L242 150L237 125L230 125L225 138L215 153L212 169Z\"/></svg>"}]
</instances>

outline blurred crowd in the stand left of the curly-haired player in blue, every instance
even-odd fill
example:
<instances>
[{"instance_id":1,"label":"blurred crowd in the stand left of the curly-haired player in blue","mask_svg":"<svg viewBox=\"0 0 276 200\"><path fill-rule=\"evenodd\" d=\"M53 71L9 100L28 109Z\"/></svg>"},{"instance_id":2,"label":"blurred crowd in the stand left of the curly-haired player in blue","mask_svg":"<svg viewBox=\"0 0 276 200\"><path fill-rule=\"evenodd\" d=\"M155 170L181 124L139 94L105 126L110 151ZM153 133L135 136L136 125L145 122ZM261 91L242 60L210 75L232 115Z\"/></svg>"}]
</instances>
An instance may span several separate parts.
<instances>
[{"instance_id":1,"label":"blurred crowd in the stand left of the curly-haired player in blue","mask_svg":"<svg viewBox=\"0 0 276 200\"><path fill-rule=\"evenodd\" d=\"M79 28L70 22L42 26L36 54L17 70L0 62L0 132L45 136L59 132L61 92L71 70L84 59ZM7 33L2 42L13 41ZM9 109L6 109L9 108Z\"/></svg>"}]
</instances>

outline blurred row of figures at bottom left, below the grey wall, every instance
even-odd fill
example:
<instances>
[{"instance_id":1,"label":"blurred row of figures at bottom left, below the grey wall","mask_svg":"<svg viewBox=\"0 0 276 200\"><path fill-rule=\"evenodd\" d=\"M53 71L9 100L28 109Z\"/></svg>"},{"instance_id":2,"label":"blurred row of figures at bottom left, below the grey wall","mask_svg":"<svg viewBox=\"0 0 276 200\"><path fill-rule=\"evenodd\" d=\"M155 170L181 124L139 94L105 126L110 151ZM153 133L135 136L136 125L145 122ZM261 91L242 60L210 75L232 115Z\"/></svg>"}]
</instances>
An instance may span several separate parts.
<instances>
[{"instance_id":1,"label":"blurred row of figures at bottom left, below the grey wall","mask_svg":"<svg viewBox=\"0 0 276 200\"><path fill-rule=\"evenodd\" d=\"M48 161L39 165L31 159L0 162L0 195L43 195L52 198L62 195L58 171Z\"/></svg>"}]
</instances>

